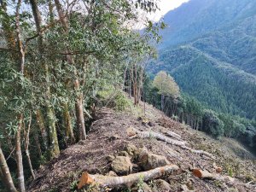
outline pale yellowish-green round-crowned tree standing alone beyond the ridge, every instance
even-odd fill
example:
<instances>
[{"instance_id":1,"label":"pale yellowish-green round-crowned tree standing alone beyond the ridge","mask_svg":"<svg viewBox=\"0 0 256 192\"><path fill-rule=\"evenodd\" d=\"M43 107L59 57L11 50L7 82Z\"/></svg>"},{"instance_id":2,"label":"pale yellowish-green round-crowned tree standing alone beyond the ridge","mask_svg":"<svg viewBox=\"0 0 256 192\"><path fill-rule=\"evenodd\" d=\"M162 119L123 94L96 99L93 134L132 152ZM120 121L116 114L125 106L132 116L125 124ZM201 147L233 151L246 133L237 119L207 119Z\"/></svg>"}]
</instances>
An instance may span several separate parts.
<instances>
[{"instance_id":1,"label":"pale yellowish-green round-crowned tree standing alone beyond the ridge","mask_svg":"<svg viewBox=\"0 0 256 192\"><path fill-rule=\"evenodd\" d=\"M161 109L164 110L164 100L165 96L171 96L174 99L180 95L179 88L174 81L174 79L164 71L160 71L154 77L153 81L154 87L159 90L161 95Z\"/></svg>"}]
</instances>

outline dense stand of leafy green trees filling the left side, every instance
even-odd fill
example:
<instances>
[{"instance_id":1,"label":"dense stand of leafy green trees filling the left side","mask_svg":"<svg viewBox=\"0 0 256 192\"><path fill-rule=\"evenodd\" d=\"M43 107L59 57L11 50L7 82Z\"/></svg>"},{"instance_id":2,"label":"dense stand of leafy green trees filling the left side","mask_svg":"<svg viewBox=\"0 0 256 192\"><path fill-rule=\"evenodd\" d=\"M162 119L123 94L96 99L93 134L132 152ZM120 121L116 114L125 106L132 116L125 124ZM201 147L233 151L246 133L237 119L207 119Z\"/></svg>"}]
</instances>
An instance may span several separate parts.
<instances>
[{"instance_id":1,"label":"dense stand of leafy green trees filling the left side","mask_svg":"<svg viewBox=\"0 0 256 192\"><path fill-rule=\"evenodd\" d=\"M0 176L6 190L26 191L35 168L86 139L98 92L122 89L126 71L152 55L158 26L138 15L158 8L153 0L0 3ZM135 32L137 22L147 30Z\"/></svg>"}]
</instances>

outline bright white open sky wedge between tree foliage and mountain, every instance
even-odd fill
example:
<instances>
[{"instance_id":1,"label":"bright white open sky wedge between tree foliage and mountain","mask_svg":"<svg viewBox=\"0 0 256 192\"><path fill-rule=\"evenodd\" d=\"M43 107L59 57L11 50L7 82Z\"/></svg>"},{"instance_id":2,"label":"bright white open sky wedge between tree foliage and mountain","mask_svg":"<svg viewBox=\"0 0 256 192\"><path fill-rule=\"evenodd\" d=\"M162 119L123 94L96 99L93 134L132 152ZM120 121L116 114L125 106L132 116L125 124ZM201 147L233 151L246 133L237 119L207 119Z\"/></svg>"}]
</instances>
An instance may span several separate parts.
<instances>
[{"instance_id":1,"label":"bright white open sky wedge between tree foliage and mountain","mask_svg":"<svg viewBox=\"0 0 256 192\"><path fill-rule=\"evenodd\" d=\"M157 11L154 15L150 15L149 18L154 21L158 21L163 15L166 15L168 11L179 7L185 2L189 2L189 0L160 0L160 11Z\"/></svg>"}]
</instances>

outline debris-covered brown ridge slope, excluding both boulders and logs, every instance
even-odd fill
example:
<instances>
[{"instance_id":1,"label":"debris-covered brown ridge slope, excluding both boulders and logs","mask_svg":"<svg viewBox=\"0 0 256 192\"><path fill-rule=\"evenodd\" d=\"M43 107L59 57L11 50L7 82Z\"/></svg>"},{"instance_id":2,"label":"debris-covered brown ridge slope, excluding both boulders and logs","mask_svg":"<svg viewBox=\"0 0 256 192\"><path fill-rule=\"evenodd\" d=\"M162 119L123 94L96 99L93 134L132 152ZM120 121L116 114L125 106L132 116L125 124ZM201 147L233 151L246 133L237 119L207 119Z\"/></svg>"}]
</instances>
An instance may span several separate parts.
<instances>
[{"instance_id":1,"label":"debris-covered brown ridge slope, excluding both boulders and logs","mask_svg":"<svg viewBox=\"0 0 256 192\"><path fill-rule=\"evenodd\" d=\"M112 167L111 162L107 160L108 155L121 155L120 152L124 155L125 148L131 144L137 148L148 148L150 153L163 155L169 162L179 166L178 172L161 177L171 183L169 186L171 191L182 191L184 186L187 186L185 188L188 189L195 189L195 191L236 189L253 191L253 179L256 177L253 172L256 168L255 162L252 160L254 157L239 143L228 139L216 141L201 132L193 131L189 127L167 118L148 104L146 104L146 119L150 120L151 126L138 119L134 114L117 113L109 108L102 108L97 113L96 121L91 125L88 139L70 146L62 151L57 159L41 167L37 172L37 179L30 184L29 191L74 191L82 172L107 175ZM154 137L128 137L126 131L131 127L140 131L155 131L162 134L166 131L173 131L179 134L190 148L206 150L212 153L216 159L213 160L203 154L191 153L189 150L156 140ZM132 162L140 165L133 159ZM189 171L194 166L215 173L214 165L223 169L223 172L220 173L222 176L230 174L235 177L235 181L233 179L229 181L203 180L195 177ZM135 168L132 172L141 171L139 168ZM230 181L232 182L230 183ZM249 181L252 182L245 184ZM148 181L148 185L151 188L159 189L160 186L154 184L155 182ZM90 191L95 190L90 189Z\"/></svg>"}]
</instances>

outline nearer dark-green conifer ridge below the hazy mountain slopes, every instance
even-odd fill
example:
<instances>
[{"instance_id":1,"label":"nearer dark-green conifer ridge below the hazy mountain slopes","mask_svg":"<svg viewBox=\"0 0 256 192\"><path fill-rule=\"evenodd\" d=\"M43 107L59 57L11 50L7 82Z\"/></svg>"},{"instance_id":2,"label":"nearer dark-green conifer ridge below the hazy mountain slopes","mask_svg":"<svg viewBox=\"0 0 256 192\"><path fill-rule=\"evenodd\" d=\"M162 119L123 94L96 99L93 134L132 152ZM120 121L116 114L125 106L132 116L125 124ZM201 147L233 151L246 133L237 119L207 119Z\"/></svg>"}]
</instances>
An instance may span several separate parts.
<instances>
[{"instance_id":1,"label":"nearer dark-green conifer ridge below the hazy mountain slopes","mask_svg":"<svg viewBox=\"0 0 256 192\"><path fill-rule=\"evenodd\" d=\"M256 117L256 77L191 46L181 46L151 63L151 73L168 71L177 84L208 108ZM152 67L154 66L154 67Z\"/></svg>"}]
</instances>

